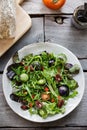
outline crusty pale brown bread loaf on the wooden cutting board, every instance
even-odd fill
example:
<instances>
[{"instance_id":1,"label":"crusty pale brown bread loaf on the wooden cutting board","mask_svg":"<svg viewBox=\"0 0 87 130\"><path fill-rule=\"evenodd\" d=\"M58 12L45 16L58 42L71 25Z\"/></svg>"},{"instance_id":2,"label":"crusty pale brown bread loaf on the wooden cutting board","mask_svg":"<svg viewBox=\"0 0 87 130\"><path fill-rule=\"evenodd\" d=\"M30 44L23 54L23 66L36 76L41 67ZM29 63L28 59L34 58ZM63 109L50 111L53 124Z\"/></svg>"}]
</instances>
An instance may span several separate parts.
<instances>
[{"instance_id":1,"label":"crusty pale brown bread loaf on the wooden cutting board","mask_svg":"<svg viewBox=\"0 0 87 130\"><path fill-rule=\"evenodd\" d=\"M15 38L16 0L0 0L0 39Z\"/></svg>"}]
</instances>

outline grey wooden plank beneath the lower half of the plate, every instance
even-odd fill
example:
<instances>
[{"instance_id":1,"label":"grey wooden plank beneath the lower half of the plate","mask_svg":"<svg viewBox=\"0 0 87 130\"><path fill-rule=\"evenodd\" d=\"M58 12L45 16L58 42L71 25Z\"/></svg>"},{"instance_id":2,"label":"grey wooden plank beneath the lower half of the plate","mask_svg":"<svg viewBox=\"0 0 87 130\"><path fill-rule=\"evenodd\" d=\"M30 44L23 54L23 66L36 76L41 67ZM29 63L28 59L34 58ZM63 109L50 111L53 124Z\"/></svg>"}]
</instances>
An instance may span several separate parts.
<instances>
[{"instance_id":1,"label":"grey wooden plank beneath the lower half of the plate","mask_svg":"<svg viewBox=\"0 0 87 130\"><path fill-rule=\"evenodd\" d=\"M85 93L79 106L66 117L50 122L50 123L33 123L27 121L17 114L15 114L5 101L5 97L2 92L2 76L0 75L0 127L20 127L20 128L53 128L53 127L87 127L87 86L85 87ZM85 73L85 82L87 84L87 73ZM45 130L46 130L45 129ZM64 129L66 130L66 129ZM72 129L73 130L73 129ZM76 128L76 130L80 130ZM85 130L85 129L83 129Z\"/></svg>"}]
</instances>

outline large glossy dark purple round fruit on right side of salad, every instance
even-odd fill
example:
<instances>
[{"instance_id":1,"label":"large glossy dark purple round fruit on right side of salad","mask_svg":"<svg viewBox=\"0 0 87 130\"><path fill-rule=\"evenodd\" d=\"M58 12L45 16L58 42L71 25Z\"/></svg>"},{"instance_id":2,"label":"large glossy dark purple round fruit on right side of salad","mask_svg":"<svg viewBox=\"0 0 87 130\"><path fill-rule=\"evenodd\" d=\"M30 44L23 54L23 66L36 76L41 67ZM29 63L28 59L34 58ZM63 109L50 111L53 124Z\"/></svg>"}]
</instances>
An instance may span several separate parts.
<instances>
[{"instance_id":1,"label":"large glossy dark purple round fruit on right side of salad","mask_svg":"<svg viewBox=\"0 0 87 130\"><path fill-rule=\"evenodd\" d=\"M69 96L69 87L67 85L59 86L58 90L61 96Z\"/></svg>"}]
</instances>

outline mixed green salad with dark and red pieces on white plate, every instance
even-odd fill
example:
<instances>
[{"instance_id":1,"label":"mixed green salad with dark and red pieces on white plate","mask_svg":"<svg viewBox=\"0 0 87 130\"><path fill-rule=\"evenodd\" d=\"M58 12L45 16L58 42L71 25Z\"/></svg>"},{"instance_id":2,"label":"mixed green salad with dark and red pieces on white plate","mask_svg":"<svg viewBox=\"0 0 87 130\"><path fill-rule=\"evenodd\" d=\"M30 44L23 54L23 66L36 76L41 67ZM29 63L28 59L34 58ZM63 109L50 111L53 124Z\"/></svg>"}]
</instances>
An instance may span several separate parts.
<instances>
[{"instance_id":1,"label":"mixed green salad with dark and red pieces on white plate","mask_svg":"<svg viewBox=\"0 0 87 130\"><path fill-rule=\"evenodd\" d=\"M63 53L43 51L22 60L15 54L13 64L7 68L7 77L15 90L10 98L19 102L22 110L42 118L63 114L68 100L78 94L74 77L79 71L79 65L68 63Z\"/></svg>"}]
</instances>

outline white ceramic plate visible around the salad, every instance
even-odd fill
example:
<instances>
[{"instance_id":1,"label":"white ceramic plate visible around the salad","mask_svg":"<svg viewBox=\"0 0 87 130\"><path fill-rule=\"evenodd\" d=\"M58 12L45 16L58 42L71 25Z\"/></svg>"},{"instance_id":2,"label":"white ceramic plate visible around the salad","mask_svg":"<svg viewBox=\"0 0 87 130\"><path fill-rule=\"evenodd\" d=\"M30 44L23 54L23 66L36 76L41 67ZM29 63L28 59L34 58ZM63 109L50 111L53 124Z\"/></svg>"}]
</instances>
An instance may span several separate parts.
<instances>
[{"instance_id":1,"label":"white ceramic plate visible around the salad","mask_svg":"<svg viewBox=\"0 0 87 130\"><path fill-rule=\"evenodd\" d=\"M66 56L68 57L68 62L70 62L72 64L76 63L80 66L80 73L77 76L75 76L75 79L79 84L79 87L77 89L78 95L77 95L77 97L75 97L73 99L69 99L68 104L66 105L66 112L64 114L56 114L56 115L48 117L46 119L42 119L38 115L30 115L28 111L23 111L20 108L20 103L17 103L10 99L9 95L12 93L12 87L11 87L11 83L10 83L9 79L6 76L6 72L7 72L7 66L12 64L12 58L11 58L8 61L7 65L5 67L5 70L4 70L4 74L3 74L3 92L5 95L5 98L7 100L8 105L11 107L11 109L15 113L17 113L19 116L21 116L27 120L34 121L34 122L50 122L50 121L58 120L58 119L61 119L62 117L65 117L67 114L69 114L71 111L73 111L78 106L78 104L80 103L80 101L82 99L82 96L84 93L84 88L85 88L84 74L83 74L83 70L82 70L80 62L78 61L76 56L71 51L69 51L68 49L66 49L63 46L60 46L60 45L54 44L54 43L30 44L28 46L23 47L21 50L18 51L19 58L21 59L22 57L24 57L25 55L27 55L29 53L39 54L45 50L47 52L53 52L54 54L65 53Z\"/></svg>"}]
</instances>

